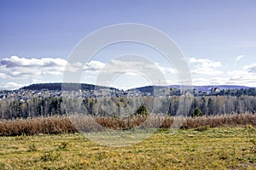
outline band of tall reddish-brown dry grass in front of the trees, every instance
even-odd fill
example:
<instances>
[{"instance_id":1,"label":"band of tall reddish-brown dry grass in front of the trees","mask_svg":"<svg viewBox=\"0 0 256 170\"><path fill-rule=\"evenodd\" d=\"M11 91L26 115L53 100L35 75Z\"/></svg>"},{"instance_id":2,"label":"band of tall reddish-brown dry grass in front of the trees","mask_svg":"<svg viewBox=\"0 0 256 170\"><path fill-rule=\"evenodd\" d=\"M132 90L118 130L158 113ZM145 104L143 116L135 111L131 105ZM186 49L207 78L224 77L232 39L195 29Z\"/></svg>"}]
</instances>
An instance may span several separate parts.
<instances>
[{"instance_id":1,"label":"band of tall reddish-brown dry grass in front of the trees","mask_svg":"<svg viewBox=\"0 0 256 170\"><path fill-rule=\"evenodd\" d=\"M233 114L224 116L179 117L180 128L209 127L256 127L256 115ZM99 117L99 116L50 116L32 119L0 121L0 136L33 135L39 133L76 133L97 132L105 128L130 129L172 127L175 116L133 116L133 117Z\"/></svg>"}]
</instances>

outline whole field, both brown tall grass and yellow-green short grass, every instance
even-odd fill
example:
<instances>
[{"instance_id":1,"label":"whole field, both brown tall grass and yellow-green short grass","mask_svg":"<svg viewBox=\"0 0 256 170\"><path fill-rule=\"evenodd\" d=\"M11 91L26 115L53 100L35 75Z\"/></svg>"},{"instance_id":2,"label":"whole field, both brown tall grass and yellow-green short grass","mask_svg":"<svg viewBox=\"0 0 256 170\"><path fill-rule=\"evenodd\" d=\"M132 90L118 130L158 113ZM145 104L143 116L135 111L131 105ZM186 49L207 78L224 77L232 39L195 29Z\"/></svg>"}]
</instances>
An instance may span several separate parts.
<instances>
[{"instance_id":1,"label":"whole field, both brown tall grass and yellow-green short grass","mask_svg":"<svg viewBox=\"0 0 256 170\"><path fill-rule=\"evenodd\" d=\"M175 116L2 120L0 169L256 169L256 115L180 119L178 128Z\"/></svg>"}]
</instances>

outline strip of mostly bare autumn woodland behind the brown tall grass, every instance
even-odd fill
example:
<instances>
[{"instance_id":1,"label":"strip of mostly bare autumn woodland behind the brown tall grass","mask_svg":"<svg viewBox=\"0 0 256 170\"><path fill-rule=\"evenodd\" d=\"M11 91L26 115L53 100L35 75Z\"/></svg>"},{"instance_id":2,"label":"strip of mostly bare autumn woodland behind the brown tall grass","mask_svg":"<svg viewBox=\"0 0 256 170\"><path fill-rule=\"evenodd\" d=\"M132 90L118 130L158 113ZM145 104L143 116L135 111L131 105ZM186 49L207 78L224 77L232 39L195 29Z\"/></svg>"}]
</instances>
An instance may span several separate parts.
<instances>
[{"instance_id":1,"label":"strip of mostly bare autumn woodland behind the brown tall grass","mask_svg":"<svg viewBox=\"0 0 256 170\"><path fill-rule=\"evenodd\" d=\"M176 116L177 111L183 111L183 101L190 101L189 113L192 116L195 109L201 115L223 115L232 113L255 113L256 97L240 96L181 96L169 98L33 98L27 101L15 99L0 100L0 118L27 118L36 116L55 116L79 113L91 116L129 116L137 111L140 105L145 105L149 113ZM180 107L179 107L180 106ZM185 110L184 110L185 111ZM184 114L183 114L184 115Z\"/></svg>"}]
</instances>

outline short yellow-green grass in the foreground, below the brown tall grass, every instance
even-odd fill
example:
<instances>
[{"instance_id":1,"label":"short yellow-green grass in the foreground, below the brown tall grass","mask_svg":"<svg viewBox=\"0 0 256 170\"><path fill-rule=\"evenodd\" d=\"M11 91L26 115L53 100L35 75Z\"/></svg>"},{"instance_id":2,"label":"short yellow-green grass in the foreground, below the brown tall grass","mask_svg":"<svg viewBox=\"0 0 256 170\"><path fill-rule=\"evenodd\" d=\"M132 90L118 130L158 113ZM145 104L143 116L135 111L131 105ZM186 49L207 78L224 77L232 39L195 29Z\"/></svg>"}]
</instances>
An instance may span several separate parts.
<instances>
[{"instance_id":1,"label":"short yellow-green grass in the foreground, below the brown tall grass","mask_svg":"<svg viewBox=\"0 0 256 170\"><path fill-rule=\"evenodd\" d=\"M0 137L0 169L256 169L256 131L160 129L125 147L102 146L79 133Z\"/></svg>"}]
</instances>

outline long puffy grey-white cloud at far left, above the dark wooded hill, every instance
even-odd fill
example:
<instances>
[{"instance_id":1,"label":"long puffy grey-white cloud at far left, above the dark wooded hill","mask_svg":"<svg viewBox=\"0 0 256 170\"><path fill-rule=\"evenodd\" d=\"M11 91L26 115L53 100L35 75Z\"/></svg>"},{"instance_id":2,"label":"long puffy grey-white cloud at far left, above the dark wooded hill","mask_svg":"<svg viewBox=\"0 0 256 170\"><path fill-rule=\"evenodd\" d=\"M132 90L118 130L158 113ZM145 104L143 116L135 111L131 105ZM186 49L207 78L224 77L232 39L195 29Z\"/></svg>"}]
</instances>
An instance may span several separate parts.
<instances>
[{"instance_id":1,"label":"long puffy grey-white cloud at far left, above the dark wooded hill","mask_svg":"<svg viewBox=\"0 0 256 170\"><path fill-rule=\"evenodd\" d=\"M4 58L0 62L0 77L38 78L62 76L63 71L82 71L81 63L68 63L61 58L26 59L18 56Z\"/></svg>"}]
</instances>

